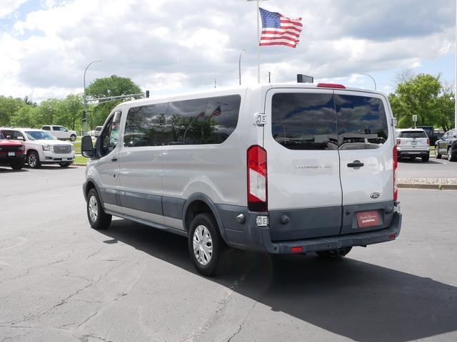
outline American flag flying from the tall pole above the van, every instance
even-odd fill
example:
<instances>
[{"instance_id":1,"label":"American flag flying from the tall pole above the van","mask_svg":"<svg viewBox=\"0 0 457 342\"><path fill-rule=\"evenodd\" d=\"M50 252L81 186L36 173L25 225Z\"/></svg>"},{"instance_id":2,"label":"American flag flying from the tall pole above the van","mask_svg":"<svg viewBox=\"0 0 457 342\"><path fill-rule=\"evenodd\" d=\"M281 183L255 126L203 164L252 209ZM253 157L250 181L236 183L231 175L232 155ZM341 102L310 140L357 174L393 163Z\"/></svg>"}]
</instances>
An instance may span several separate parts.
<instances>
[{"instance_id":1,"label":"American flag flying from the tall pole above the van","mask_svg":"<svg viewBox=\"0 0 457 342\"><path fill-rule=\"evenodd\" d=\"M290 19L277 12L260 9L262 34L260 45L285 45L295 48L300 37L301 18Z\"/></svg>"}]
</instances>

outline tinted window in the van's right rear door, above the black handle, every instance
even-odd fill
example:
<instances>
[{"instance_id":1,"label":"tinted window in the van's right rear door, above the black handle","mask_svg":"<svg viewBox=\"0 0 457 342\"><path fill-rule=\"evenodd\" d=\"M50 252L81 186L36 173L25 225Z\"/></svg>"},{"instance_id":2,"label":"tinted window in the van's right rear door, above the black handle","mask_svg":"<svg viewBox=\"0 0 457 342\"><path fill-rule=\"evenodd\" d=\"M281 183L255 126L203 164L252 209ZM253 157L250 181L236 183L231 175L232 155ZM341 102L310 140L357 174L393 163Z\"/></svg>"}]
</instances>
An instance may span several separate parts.
<instances>
[{"instance_id":1,"label":"tinted window in the van's right rear door, above the black handle","mask_svg":"<svg viewBox=\"0 0 457 342\"><path fill-rule=\"evenodd\" d=\"M340 150L378 148L386 142L386 111L379 98L335 95Z\"/></svg>"}]
</instances>

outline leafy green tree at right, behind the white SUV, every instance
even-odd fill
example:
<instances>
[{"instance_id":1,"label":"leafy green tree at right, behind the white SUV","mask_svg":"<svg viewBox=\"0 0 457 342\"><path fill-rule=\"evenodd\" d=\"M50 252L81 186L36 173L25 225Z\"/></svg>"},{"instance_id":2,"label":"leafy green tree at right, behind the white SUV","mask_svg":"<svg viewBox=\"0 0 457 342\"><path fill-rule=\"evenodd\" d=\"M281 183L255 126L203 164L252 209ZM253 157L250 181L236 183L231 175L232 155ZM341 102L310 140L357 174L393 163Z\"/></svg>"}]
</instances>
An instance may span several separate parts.
<instances>
[{"instance_id":1,"label":"leafy green tree at right, behind the white SUV","mask_svg":"<svg viewBox=\"0 0 457 342\"><path fill-rule=\"evenodd\" d=\"M393 115L398 128L413 125L413 114L418 116L417 125L433 125L448 130L451 90L443 88L440 76L429 74L408 75L399 81L395 93L389 95Z\"/></svg>"}]
</instances>

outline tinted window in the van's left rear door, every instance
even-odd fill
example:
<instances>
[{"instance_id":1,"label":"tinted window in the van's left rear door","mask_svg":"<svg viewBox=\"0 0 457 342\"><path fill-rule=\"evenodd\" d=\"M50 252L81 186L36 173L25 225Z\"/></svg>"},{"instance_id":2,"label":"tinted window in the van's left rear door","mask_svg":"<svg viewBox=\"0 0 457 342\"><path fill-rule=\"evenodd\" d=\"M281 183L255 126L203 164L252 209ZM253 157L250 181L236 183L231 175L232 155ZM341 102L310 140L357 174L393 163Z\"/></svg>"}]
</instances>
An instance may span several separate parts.
<instances>
[{"instance_id":1,"label":"tinted window in the van's left rear door","mask_svg":"<svg viewBox=\"0 0 457 342\"><path fill-rule=\"evenodd\" d=\"M337 148L333 94L274 94L271 117L274 140L289 150Z\"/></svg>"}]
</instances>

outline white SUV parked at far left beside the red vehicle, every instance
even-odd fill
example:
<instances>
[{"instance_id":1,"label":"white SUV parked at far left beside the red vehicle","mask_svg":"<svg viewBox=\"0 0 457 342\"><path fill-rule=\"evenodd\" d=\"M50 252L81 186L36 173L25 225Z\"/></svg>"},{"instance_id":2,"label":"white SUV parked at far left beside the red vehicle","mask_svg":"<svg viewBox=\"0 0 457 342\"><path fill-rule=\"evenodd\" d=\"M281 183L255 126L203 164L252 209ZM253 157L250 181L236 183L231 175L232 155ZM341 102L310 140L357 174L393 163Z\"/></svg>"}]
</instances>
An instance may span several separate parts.
<instances>
[{"instance_id":1,"label":"white SUV parked at far left beside the red vehicle","mask_svg":"<svg viewBox=\"0 0 457 342\"><path fill-rule=\"evenodd\" d=\"M46 130L34 128L0 128L1 133L13 140L24 142L26 162L37 168L43 164L59 164L68 167L74 162L74 147L70 142L61 142Z\"/></svg>"}]
</instances>

